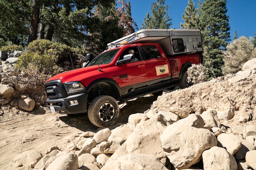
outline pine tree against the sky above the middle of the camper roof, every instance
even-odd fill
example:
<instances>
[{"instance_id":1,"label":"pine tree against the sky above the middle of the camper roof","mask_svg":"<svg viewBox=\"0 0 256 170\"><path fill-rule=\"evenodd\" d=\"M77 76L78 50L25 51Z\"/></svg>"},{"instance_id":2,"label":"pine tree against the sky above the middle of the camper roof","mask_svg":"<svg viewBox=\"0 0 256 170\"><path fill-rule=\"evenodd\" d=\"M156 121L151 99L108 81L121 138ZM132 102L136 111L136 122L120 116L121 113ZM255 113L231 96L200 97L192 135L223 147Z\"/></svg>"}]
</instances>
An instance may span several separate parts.
<instances>
[{"instance_id":1,"label":"pine tree against the sky above the middle of the camper roof","mask_svg":"<svg viewBox=\"0 0 256 170\"><path fill-rule=\"evenodd\" d=\"M171 19L168 16L168 5L164 6L165 0L156 0L151 5L151 13L149 12L144 19L142 29L169 29L171 25Z\"/></svg>"}]
</instances>

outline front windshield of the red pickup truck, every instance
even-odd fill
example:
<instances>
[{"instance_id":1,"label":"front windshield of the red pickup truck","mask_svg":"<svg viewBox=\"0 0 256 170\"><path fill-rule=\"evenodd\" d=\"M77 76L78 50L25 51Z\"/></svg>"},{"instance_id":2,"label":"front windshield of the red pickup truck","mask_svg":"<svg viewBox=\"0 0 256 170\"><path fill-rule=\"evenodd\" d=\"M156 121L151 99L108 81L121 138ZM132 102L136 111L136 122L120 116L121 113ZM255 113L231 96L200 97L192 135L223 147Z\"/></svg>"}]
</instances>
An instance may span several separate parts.
<instances>
[{"instance_id":1,"label":"front windshield of the red pickup truck","mask_svg":"<svg viewBox=\"0 0 256 170\"><path fill-rule=\"evenodd\" d=\"M110 63L113 58L115 57L116 53L119 51L119 49L114 49L111 51L107 51L105 53L101 53L97 57L95 57L90 64L87 66L95 66L95 65L100 65L100 64L108 64Z\"/></svg>"}]
</instances>

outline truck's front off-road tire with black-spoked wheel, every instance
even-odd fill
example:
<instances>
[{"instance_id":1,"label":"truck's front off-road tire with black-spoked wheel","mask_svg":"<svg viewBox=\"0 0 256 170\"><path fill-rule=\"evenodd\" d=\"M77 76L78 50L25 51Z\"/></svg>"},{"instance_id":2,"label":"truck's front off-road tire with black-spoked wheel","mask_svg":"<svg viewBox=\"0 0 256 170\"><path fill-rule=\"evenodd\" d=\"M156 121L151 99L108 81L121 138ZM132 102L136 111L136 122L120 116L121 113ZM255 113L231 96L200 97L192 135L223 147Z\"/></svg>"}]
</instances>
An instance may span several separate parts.
<instances>
[{"instance_id":1,"label":"truck's front off-road tire with black-spoked wheel","mask_svg":"<svg viewBox=\"0 0 256 170\"><path fill-rule=\"evenodd\" d=\"M119 116L119 106L114 98L101 95L92 100L88 108L88 117L98 127L111 126Z\"/></svg>"}]
</instances>

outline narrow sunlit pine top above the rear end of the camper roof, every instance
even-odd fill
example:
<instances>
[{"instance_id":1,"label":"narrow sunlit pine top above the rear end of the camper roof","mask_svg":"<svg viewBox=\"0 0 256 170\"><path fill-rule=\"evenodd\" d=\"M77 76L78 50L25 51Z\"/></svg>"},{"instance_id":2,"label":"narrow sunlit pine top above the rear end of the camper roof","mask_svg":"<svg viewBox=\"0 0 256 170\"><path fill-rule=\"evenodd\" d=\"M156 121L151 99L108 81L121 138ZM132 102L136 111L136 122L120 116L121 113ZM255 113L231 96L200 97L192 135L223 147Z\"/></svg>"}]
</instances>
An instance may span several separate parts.
<instances>
[{"instance_id":1,"label":"narrow sunlit pine top above the rear end of the camper roof","mask_svg":"<svg viewBox=\"0 0 256 170\"><path fill-rule=\"evenodd\" d=\"M196 24L196 9L195 3L193 0L189 0L188 6L185 9L185 14L182 14L182 19L185 21L184 23L180 23L181 29L197 29Z\"/></svg>"}]
</instances>

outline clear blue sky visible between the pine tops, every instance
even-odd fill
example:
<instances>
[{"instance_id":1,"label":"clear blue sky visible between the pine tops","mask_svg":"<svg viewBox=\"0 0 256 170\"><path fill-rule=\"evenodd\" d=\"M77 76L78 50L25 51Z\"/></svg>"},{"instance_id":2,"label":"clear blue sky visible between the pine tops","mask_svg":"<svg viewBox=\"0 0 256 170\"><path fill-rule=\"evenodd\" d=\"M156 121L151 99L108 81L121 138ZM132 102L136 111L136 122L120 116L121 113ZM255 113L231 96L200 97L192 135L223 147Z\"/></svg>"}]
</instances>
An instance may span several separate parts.
<instances>
[{"instance_id":1,"label":"clear blue sky visible between the pine tops","mask_svg":"<svg viewBox=\"0 0 256 170\"><path fill-rule=\"evenodd\" d=\"M141 22L144 22L147 12L151 11L150 7L155 0L127 0L130 1L131 14L135 19L139 29ZM203 1L203 0L202 0ZM197 0L194 0L197 7ZM180 26L182 20L182 13L188 6L188 0L165 0L165 5L168 5L168 13L170 16L170 4L171 4L171 18L172 28ZM248 37L254 37L256 31L256 0L227 0L227 15L229 16L230 36L234 37L234 31L236 30L238 37L247 35ZM140 22L139 22L140 21ZM179 28L178 28L179 29Z\"/></svg>"}]
</instances>

